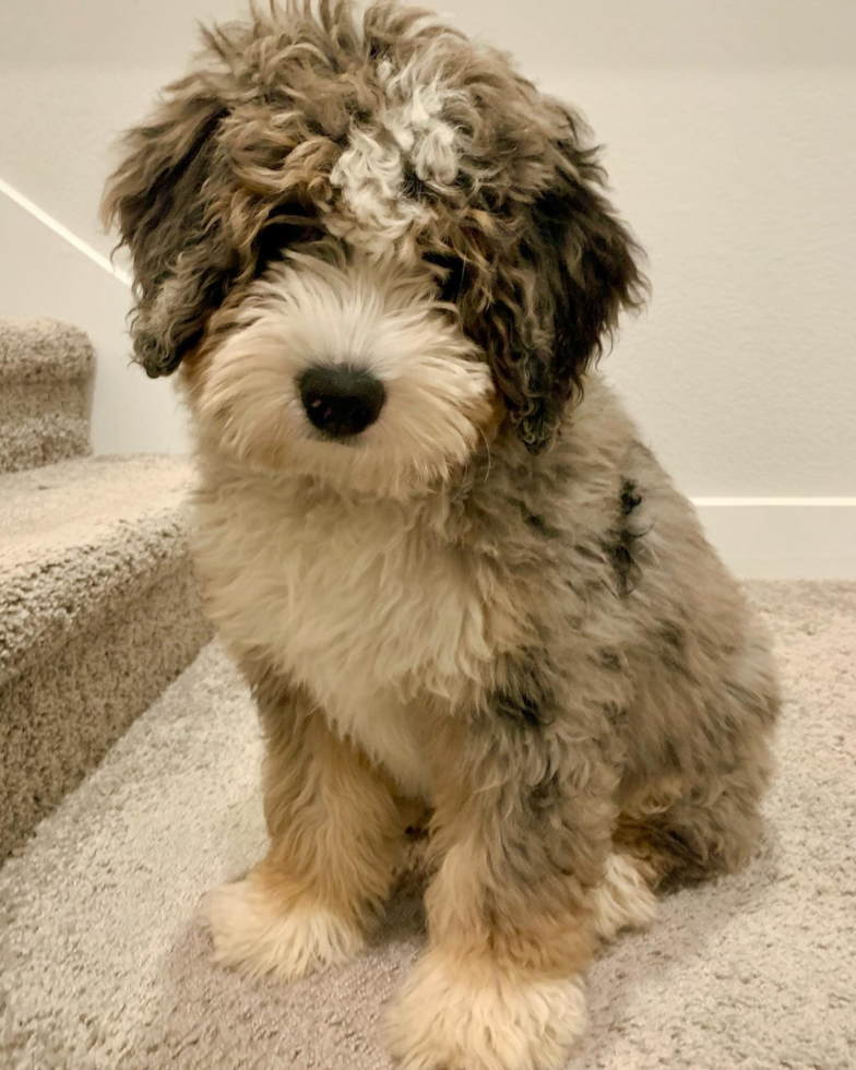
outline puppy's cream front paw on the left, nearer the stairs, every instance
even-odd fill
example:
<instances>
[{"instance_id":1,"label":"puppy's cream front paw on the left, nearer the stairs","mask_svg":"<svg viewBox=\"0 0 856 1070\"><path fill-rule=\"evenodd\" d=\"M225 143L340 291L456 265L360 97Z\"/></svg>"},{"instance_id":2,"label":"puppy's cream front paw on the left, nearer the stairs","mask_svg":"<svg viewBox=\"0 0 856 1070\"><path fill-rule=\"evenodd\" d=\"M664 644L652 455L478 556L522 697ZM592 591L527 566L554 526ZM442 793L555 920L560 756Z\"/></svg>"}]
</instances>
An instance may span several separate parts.
<instances>
[{"instance_id":1,"label":"puppy's cream front paw on the left, nearer the stairs","mask_svg":"<svg viewBox=\"0 0 856 1070\"><path fill-rule=\"evenodd\" d=\"M286 905L251 873L236 884L210 892L203 917L214 941L214 959L252 977L282 980L305 977L356 954L364 934L308 899Z\"/></svg>"}]
</instances>

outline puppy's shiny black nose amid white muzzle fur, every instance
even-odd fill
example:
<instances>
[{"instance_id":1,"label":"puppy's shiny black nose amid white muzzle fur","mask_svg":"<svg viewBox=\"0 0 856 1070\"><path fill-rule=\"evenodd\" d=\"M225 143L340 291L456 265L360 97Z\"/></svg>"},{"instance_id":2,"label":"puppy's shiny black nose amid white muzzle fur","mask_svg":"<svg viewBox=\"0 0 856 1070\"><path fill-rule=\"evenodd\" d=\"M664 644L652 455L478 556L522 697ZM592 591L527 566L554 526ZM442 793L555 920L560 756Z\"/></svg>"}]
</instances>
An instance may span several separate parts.
<instances>
[{"instance_id":1,"label":"puppy's shiny black nose amid white muzzle fur","mask_svg":"<svg viewBox=\"0 0 856 1070\"><path fill-rule=\"evenodd\" d=\"M387 400L382 382L345 366L308 368L298 385L310 423L336 439L365 431Z\"/></svg>"}]
</instances>

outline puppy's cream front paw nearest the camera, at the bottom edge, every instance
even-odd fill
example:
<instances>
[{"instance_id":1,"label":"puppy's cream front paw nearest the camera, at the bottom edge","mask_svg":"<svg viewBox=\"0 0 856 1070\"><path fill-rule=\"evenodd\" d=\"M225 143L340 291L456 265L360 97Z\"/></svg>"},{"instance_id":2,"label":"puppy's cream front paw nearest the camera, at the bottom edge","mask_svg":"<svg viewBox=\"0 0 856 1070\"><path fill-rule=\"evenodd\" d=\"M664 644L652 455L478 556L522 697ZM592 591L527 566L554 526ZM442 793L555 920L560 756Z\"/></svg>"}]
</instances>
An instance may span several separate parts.
<instances>
[{"instance_id":1,"label":"puppy's cream front paw nearest the camera, at the bottom edge","mask_svg":"<svg viewBox=\"0 0 856 1070\"><path fill-rule=\"evenodd\" d=\"M387 1016L405 1070L555 1070L585 1029L581 977L533 979L429 951Z\"/></svg>"}]
</instances>

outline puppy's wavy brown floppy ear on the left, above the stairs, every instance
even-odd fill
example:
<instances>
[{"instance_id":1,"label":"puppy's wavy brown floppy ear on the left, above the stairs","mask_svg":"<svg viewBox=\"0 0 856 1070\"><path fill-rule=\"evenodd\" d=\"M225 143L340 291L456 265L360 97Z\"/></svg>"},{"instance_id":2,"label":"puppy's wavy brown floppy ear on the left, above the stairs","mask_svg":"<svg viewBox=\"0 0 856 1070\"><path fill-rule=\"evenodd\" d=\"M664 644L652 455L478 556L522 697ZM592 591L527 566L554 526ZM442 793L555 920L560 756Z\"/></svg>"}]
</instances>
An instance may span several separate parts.
<instances>
[{"instance_id":1,"label":"puppy's wavy brown floppy ear on the left, above the stairs","mask_svg":"<svg viewBox=\"0 0 856 1070\"><path fill-rule=\"evenodd\" d=\"M169 374L195 345L237 270L206 195L228 110L197 75L175 82L167 94L151 121L127 134L126 157L102 209L131 252L134 359L152 377Z\"/></svg>"}]
</instances>

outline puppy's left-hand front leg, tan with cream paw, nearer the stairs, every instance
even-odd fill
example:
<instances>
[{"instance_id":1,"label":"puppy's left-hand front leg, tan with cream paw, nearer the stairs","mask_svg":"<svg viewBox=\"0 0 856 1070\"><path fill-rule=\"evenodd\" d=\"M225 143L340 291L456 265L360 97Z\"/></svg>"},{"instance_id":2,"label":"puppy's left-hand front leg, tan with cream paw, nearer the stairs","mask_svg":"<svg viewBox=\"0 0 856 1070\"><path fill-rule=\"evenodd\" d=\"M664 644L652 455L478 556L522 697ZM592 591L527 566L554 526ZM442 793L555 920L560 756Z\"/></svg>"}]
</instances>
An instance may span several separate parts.
<instances>
[{"instance_id":1,"label":"puppy's left-hand front leg, tan with cream paw, nearer the stairs","mask_svg":"<svg viewBox=\"0 0 856 1070\"><path fill-rule=\"evenodd\" d=\"M402 849L399 810L366 757L299 691L257 688L266 736L266 857L212 892L215 958L285 980L362 946Z\"/></svg>"}]
</instances>

